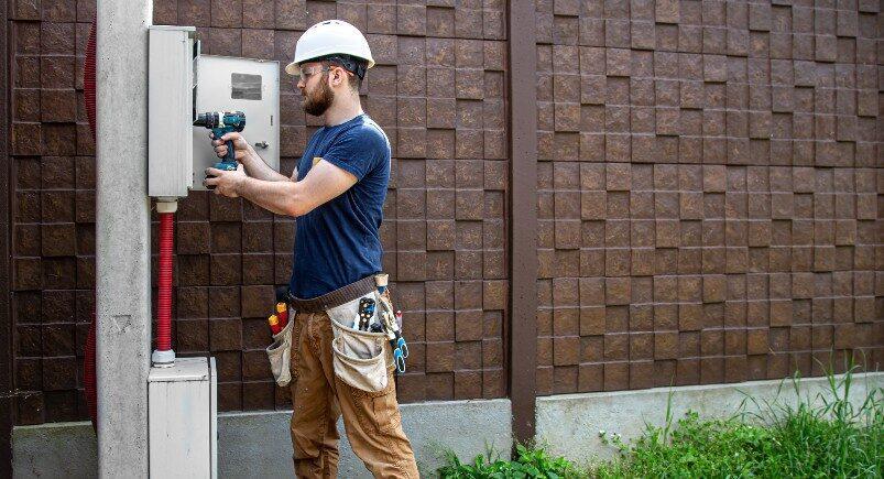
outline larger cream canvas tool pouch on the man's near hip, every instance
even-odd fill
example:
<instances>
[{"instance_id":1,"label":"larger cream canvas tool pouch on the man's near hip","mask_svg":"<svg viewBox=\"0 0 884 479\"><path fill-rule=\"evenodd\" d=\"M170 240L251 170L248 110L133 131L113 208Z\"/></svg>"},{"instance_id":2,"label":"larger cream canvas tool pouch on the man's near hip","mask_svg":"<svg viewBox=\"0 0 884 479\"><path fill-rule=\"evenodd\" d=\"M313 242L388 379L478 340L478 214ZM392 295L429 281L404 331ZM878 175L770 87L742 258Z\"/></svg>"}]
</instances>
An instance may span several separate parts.
<instances>
[{"instance_id":1,"label":"larger cream canvas tool pouch on the man's near hip","mask_svg":"<svg viewBox=\"0 0 884 479\"><path fill-rule=\"evenodd\" d=\"M383 391L388 385L386 350L383 333L360 331L331 322L335 374L345 383L365 392Z\"/></svg>"}]
</instances>

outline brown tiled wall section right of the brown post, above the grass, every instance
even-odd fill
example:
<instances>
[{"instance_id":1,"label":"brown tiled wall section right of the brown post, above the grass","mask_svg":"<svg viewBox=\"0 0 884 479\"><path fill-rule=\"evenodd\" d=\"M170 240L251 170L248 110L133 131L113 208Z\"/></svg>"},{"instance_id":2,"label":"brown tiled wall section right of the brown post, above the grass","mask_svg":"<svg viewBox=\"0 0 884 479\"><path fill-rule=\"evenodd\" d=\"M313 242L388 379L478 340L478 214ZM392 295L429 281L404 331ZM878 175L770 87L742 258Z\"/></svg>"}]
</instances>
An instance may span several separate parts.
<instances>
[{"instance_id":1,"label":"brown tiled wall section right of the brown post, above the grass","mask_svg":"<svg viewBox=\"0 0 884 479\"><path fill-rule=\"evenodd\" d=\"M881 363L878 2L536 7L538 392Z\"/></svg>"}]
</instances>

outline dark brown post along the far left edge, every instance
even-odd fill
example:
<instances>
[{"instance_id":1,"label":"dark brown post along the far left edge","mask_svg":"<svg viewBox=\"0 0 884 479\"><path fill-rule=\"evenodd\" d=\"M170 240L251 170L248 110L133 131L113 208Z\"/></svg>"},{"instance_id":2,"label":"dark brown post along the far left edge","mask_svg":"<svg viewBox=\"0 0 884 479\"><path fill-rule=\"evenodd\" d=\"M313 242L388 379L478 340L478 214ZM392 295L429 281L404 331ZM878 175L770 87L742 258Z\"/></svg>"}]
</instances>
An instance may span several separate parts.
<instances>
[{"instance_id":1,"label":"dark brown post along the far left edge","mask_svg":"<svg viewBox=\"0 0 884 479\"><path fill-rule=\"evenodd\" d=\"M10 161L9 139L9 56L7 4L0 4L0 477L12 477L12 315L10 314Z\"/></svg>"}]
</instances>

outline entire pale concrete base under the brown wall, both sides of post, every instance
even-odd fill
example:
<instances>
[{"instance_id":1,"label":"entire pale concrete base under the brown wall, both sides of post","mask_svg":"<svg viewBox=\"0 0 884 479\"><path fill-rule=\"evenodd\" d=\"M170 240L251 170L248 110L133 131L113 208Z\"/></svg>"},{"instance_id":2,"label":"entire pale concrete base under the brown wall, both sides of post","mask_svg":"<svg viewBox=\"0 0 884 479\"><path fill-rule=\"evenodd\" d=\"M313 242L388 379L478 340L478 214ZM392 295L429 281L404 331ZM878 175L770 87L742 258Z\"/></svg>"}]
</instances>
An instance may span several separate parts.
<instances>
[{"instance_id":1,"label":"entire pale concrete base under the brown wall, both sides of post","mask_svg":"<svg viewBox=\"0 0 884 479\"><path fill-rule=\"evenodd\" d=\"M882 387L882 372L854 374L851 401L859 405L869 391ZM552 454L586 464L615 454L613 447L601 443L599 431L629 440L640 436L646 423L663 425L670 393L673 418L678 420L688 410L706 417L733 414L746 396L760 403L796 404L799 398L818 401L818 394L828 396L828 391L826 378L808 378L800 380L797 392L786 380L538 398L537 439ZM505 455L513 442L511 403L506 399L404 404L401 409L403 427L422 475L427 477L435 476L445 448L462 460L471 460L488 447ZM291 411L219 415L219 477L292 477L290 417ZM339 477L371 477L352 454L341 424L338 429L342 436ZM97 453L89 423L15 427L12 449L17 478L96 476Z\"/></svg>"}]
</instances>

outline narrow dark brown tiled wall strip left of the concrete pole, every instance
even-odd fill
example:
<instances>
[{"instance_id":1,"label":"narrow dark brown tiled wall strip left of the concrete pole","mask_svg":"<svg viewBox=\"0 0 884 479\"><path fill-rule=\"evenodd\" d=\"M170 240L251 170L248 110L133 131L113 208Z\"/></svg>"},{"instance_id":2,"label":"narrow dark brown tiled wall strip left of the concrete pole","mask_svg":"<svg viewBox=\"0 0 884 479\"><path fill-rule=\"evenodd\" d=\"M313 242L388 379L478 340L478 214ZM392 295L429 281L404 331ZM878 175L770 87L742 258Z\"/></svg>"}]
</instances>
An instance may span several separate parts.
<instances>
[{"instance_id":1,"label":"narrow dark brown tiled wall strip left of the concrete pole","mask_svg":"<svg viewBox=\"0 0 884 479\"><path fill-rule=\"evenodd\" d=\"M9 1L12 320L18 424L86 414L95 162L83 104L92 2ZM6 273L3 273L6 274Z\"/></svg>"}]
</instances>

